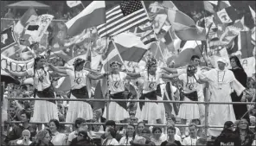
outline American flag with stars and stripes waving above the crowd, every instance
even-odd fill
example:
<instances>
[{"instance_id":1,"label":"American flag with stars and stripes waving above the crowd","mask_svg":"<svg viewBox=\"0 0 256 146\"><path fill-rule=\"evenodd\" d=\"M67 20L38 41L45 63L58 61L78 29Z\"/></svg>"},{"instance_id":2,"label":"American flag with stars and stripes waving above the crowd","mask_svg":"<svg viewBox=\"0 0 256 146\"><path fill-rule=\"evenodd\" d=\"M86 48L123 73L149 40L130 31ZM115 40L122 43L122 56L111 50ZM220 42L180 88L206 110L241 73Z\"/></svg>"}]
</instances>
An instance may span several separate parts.
<instances>
[{"instance_id":1,"label":"American flag with stars and stripes waving above the crowd","mask_svg":"<svg viewBox=\"0 0 256 146\"><path fill-rule=\"evenodd\" d=\"M97 27L100 37L118 35L149 22L141 1L124 1L106 12L106 23Z\"/></svg>"}]
</instances>

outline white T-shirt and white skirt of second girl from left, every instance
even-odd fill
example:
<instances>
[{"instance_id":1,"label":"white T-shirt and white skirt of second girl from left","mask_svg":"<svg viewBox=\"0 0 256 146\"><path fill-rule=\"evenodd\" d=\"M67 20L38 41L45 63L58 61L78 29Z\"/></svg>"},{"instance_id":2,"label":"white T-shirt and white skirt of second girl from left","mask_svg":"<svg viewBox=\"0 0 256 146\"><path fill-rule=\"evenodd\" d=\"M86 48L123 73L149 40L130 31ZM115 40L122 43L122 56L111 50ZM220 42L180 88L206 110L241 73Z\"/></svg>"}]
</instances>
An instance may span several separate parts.
<instances>
[{"instance_id":1,"label":"white T-shirt and white skirt of second girl from left","mask_svg":"<svg viewBox=\"0 0 256 146\"><path fill-rule=\"evenodd\" d=\"M81 87L86 86L86 76L88 74L86 70L74 72L74 68L73 68L72 70L67 69L66 72L70 78L71 90L80 89ZM74 97L74 95L71 93L70 98L76 98L76 97ZM92 106L85 101L70 101L68 111L67 111L66 122L74 123L77 117L82 117L82 118L85 118L86 120L93 119Z\"/></svg>"}]
</instances>

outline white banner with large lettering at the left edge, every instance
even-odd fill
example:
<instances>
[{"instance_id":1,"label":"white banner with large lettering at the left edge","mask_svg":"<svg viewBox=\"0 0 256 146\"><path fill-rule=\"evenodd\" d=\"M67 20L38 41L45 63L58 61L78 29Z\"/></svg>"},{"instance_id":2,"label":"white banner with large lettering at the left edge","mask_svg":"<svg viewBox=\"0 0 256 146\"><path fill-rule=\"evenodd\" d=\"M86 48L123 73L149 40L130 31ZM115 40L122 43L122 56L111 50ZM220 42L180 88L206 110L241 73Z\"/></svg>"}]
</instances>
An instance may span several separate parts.
<instances>
[{"instance_id":1,"label":"white banner with large lettering at the left edge","mask_svg":"<svg viewBox=\"0 0 256 146\"><path fill-rule=\"evenodd\" d=\"M1 54L1 69L7 68L12 72L25 72L29 68L33 67L34 59L26 61L11 60L10 58Z\"/></svg>"}]
</instances>

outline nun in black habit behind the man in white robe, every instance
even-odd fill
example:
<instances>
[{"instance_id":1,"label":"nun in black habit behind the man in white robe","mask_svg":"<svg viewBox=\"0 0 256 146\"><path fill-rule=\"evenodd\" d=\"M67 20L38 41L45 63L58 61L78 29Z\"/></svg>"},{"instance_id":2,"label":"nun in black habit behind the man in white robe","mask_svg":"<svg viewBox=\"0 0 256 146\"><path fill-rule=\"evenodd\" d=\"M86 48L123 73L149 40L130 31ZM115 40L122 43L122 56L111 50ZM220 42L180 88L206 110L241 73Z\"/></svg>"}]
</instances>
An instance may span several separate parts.
<instances>
[{"instance_id":1,"label":"nun in black habit behind the man in white robe","mask_svg":"<svg viewBox=\"0 0 256 146\"><path fill-rule=\"evenodd\" d=\"M247 74L242 67L240 60L236 56L230 57L230 65L232 69L230 69L234 73L235 79L237 79L240 84L246 87L247 82ZM243 94L237 96L236 92L231 93L232 102L240 102ZM233 105L234 108L234 115L236 119L246 118L249 120L249 114L246 114L247 107L246 105ZM246 115L245 115L246 114Z\"/></svg>"}]
</instances>

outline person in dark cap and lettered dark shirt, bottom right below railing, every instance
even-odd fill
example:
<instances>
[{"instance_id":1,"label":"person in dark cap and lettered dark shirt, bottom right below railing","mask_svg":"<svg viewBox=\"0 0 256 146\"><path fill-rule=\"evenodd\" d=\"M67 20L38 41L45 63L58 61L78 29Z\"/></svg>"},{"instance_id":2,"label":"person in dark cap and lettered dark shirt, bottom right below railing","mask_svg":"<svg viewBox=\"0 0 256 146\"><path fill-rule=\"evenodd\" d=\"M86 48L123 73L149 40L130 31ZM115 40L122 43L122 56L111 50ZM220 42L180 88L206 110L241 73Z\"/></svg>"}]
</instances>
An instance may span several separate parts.
<instances>
[{"instance_id":1,"label":"person in dark cap and lettered dark shirt, bottom right below railing","mask_svg":"<svg viewBox=\"0 0 256 146\"><path fill-rule=\"evenodd\" d=\"M238 133L234 132L234 123L232 121L227 121L224 124L224 128L221 131L221 135L217 136L214 145L221 146L221 145L234 145L239 146L239 135Z\"/></svg>"}]
</instances>

